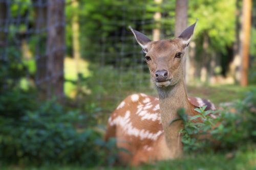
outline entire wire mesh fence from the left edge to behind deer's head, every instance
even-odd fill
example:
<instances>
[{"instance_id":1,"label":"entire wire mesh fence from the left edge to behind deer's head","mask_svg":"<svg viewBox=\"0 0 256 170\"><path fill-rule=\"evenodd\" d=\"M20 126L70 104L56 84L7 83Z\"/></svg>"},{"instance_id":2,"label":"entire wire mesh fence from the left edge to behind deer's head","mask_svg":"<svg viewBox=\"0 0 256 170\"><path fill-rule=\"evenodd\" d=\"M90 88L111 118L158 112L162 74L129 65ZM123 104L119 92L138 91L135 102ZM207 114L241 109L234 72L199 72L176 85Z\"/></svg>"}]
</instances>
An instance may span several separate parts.
<instances>
[{"instance_id":1,"label":"entire wire mesh fence from the left edge to behind deer's head","mask_svg":"<svg viewBox=\"0 0 256 170\"><path fill-rule=\"evenodd\" d=\"M78 7L72 6L74 2ZM1 69L2 73L12 69L1 75L1 85L6 90L8 86L36 87L42 98L49 99L53 95L63 98L63 91L70 96L66 88L71 83L76 99L109 110L133 92L154 94L144 54L128 26L151 39L154 29L161 32L159 38L172 37L175 2L91 3L96 9L87 1L0 0ZM161 19L155 18L157 12ZM75 15L77 20L73 20ZM78 44L73 36L76 24ZM75 45L79 46L78 59ZM73 67L77 68L70 69L69 59L76 60ZM81 74L84 69L87 74ZM76 79L67 76L70 72L78 75Z\"/></svg>"}]
</instances>

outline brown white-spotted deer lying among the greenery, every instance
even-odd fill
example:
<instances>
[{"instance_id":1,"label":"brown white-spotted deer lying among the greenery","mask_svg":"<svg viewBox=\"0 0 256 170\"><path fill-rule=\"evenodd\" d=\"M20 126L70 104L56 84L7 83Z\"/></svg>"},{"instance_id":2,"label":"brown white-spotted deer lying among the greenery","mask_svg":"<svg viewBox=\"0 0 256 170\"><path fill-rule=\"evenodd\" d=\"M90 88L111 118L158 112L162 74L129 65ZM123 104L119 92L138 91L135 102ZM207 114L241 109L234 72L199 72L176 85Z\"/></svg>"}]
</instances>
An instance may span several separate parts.
<instances>
[{"instance_id":1,"label":"brown white-spotted deer lying among the greenery","mask_svg":"<svg viewBox=\"0 0 256 170\"><path fill-rule=\"evenodd\" d=\"M119 153L123 163L139 165L181 157L179 131L182 122L169 125L178 116L177 110L183 107L192 116L199 114L194 110L196 107L207 105L207 110L215 109L208 100L188 97L183 80L185 48L195 26L196 23L175 39L159 41L151 41L144 34L130 28L145 53L159 99L143 93L132 94L111 114L105 140L115 137L117 147L130 152Z\"/></svg>"}]
</instances>

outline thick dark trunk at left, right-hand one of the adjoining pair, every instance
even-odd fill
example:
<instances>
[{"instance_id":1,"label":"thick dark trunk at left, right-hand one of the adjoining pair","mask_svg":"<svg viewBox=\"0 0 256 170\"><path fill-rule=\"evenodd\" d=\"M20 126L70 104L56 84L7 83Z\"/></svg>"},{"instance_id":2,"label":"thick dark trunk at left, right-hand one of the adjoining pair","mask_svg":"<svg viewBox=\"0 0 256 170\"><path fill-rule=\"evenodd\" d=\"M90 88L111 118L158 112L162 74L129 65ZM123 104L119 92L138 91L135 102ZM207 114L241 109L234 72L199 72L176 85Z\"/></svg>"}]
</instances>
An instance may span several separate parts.
<instances>
[{"instance_id":1,"label":"thick dark trunk at left, right-hand one of the adjoining pair","mask_svg":"<svg viewBox=\"0 0 256 170\"><path fill-rule=\"evenodd\" d=\"M64 96L64 56L65 56L65 1L48 1L47 39L47 97Z\"/></svg>"}]
</instances>

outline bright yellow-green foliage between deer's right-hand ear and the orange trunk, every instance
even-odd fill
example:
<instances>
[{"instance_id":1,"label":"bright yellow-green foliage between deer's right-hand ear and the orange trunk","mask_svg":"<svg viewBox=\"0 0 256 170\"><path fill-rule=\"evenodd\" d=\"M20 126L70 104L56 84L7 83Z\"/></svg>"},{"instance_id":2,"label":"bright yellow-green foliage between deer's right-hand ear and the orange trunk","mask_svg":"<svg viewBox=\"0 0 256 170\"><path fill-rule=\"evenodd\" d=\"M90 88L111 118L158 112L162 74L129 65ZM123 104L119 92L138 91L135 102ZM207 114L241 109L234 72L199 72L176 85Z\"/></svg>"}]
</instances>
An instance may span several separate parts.
<instances>
[{"instance_id":1,"label":"bright yellow-green foliage between deer's right-hand ear and the orange trunk","mask_svg":"<svg viewBox=\"0 0 256 170\"><path fill-rule=\"evenodd\" d=\"M209 50L226 52L226 47L234 41L236 1L197 0L189 2L189 22L194 23L199 18L196 39L207 34ZM201 45L200 45L201 46Z\"/></svg>"}]
</instances>

